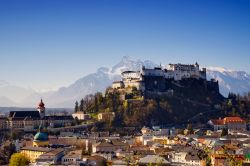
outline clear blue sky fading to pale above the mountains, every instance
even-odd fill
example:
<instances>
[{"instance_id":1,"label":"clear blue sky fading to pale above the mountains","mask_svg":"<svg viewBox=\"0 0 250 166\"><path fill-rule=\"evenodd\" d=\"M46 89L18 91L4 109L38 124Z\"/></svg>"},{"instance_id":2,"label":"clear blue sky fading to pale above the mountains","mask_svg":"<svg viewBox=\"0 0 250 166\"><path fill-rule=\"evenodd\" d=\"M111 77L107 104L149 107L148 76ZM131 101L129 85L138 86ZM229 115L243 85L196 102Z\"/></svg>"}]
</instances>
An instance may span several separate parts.
<instances>
[{"instance_id":1,"label":"clear blue sky fading to pale above the mountains","mask_svg":"<svg viewBox=\"0 0 250 166\"><path fill-rule=\"evenodd\" d=\"M0 1L0 80L54 89L127 55L250 72L250 1Z\"/></svg>"}]
</instances>

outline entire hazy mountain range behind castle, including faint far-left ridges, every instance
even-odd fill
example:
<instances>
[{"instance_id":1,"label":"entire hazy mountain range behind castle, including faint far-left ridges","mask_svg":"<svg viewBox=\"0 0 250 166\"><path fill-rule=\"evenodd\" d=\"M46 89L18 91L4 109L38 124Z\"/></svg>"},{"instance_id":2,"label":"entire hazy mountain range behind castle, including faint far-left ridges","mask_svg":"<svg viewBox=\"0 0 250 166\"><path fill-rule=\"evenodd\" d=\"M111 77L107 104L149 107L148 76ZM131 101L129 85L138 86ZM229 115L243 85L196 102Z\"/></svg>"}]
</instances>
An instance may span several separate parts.
<instances>
[{"instance_id":1,"label":"entire hazy mountain range behind castle, including faint far-left ridges","mask_svg":"<svg viewBox=\"0 0 250 166\"><path fill-rule=\"evenodd\" d=\"M119 80L122 71L139 70L143 65L147 68L158 66L151 61L126 56L111 68L101 67L95 73L78 79L68 87L45 93L14 86L5 80L0 80L0 107L35 107L41 97L47 107L74 107L76 100L80 100L87 94L104 91L114 80ZM207 78L219 81L220 92L224 96L227 96L228 92L243 94L250 91L250 75L244 71L208 67Z\"/></svg>"}]
</instances>

